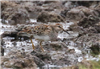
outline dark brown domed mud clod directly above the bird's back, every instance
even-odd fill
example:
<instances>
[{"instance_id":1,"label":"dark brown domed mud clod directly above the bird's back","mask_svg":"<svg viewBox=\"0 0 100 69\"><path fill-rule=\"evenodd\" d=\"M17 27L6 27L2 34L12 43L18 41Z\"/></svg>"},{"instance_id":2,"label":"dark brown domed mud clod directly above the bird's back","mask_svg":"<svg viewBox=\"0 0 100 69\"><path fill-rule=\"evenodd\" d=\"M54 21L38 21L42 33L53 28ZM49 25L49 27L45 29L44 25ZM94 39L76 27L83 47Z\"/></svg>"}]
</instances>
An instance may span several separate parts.
<instances>
[{"instance_id":1,"label":"dark brown domed mud clod directly above the bird's back","mask_svg":"<svg viewBox=\"0 0 100 69\"><path fill-rule=\"evenodd\" d=\"M42 12L38 18L38 22L64 22L64 18L56 13L50 13L50 12Z\"/></svg>"}]
</instances>

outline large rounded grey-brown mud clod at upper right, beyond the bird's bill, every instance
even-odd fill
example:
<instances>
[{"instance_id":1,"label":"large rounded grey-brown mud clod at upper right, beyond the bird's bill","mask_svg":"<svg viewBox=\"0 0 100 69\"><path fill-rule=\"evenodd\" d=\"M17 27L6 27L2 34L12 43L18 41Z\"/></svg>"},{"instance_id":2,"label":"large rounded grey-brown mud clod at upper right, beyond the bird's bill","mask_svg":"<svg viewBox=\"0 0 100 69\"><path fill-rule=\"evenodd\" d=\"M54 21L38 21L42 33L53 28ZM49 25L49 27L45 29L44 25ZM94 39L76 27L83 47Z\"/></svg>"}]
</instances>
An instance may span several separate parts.
<instances>
[{"instance_id":1,"label":"large rounded grey-brown mud clod at upper right, beyond the bird's bill","mask_svg":"<svg viewBox=\"0 0 100 69\"><path fill-rule=\"evenodd\" d=\"M91 16L93 17L98 17L96 15L96 11L93 9L83 7L83 6L78 6L75 8L72 8L67 12L67 17L70 18L71 20L80 20L82 18L90 18Z\"/></svg>"}]
</instances>

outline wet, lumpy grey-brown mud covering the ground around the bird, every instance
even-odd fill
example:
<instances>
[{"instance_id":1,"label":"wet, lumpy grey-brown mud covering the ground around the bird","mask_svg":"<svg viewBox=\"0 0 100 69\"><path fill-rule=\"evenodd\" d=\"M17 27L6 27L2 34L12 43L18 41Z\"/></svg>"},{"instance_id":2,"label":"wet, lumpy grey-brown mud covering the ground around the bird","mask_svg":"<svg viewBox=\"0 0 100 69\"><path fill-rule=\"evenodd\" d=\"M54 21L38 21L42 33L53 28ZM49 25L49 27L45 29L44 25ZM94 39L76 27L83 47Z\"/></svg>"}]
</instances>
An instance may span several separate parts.
<instances>
[{"instance_id":1,"label":"wet, lumpy grey-brown mud covering the ground around the bird","mask_svg":"<svg viewBox=\"0 0 100 69\"><path fill-rule=\"evenodd\" d=\"M84 59L100 60L99 5L79 0L0 0L0 69L77 68ZM57 41L43 42L45 52L33 38L33 51L30 38L17 33L25 26L44 23L62 23L70 35L61 32Z\"/></svg>"}]
</instances>

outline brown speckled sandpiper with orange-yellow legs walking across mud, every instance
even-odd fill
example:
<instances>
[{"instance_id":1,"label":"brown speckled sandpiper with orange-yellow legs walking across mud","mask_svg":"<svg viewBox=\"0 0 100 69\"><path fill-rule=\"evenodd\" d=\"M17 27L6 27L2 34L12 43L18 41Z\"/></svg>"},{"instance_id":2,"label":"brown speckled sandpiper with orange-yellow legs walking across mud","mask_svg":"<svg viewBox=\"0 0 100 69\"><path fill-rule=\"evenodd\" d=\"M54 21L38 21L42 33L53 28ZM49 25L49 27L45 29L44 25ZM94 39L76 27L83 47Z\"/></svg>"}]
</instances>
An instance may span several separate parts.
<instances>
[{"instance_id":1,"label":"brown speckled sandpiper with orange-yellow legs walking across mud","mask_svg":"<svg viewBox=\"0 0 100 69\"><path fill-rule=\"evenodd\" d=\"M33 50L35 49L35 46L32 42L32 38L34 37L36 40L40 42L39 45L41 47L41 50L44 52L44 49L42 47L42 42L57 40L58 33L62 31L68 33L68 31L63 29L63 25L60 23L37 24L33 27L32 26L24 27L21 31L17 33L17 35L29 36L32 43Z\"/></svg>"}]
</instances>

